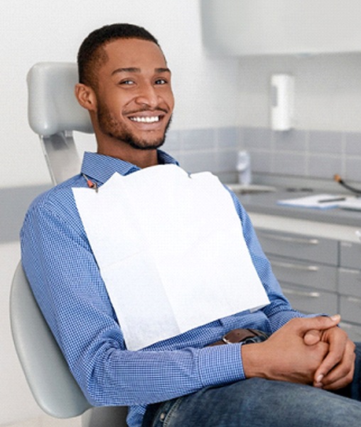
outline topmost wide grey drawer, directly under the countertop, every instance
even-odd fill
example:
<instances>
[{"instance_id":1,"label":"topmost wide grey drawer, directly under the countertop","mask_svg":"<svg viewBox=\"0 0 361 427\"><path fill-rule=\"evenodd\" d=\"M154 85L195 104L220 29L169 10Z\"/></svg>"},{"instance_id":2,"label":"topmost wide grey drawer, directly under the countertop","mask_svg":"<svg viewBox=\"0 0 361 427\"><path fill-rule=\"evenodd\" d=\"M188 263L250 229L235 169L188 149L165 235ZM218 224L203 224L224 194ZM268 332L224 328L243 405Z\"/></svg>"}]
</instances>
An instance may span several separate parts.
<instances>
[{"instance_id":1,"label":"topmost wide grey drawer, directly under the countertop","mask_svg":"<svg viewBox=\"0 0 361 427\"><path fill-rule=\"evenodd\" d=\"M338 241L264 230L258 230L257 236L266 254L338 265Z\"/></svg>"}]
</instances>

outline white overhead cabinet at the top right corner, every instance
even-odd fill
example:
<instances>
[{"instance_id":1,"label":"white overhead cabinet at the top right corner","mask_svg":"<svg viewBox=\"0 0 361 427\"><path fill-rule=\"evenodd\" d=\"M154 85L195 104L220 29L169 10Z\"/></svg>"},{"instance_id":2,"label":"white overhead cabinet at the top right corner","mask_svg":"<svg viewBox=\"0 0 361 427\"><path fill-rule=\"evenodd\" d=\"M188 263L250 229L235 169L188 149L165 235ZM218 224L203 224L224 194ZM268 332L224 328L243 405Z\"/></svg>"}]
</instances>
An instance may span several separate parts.
<instances>
[{"instance_id":1,"label":"white overhead cabinet at the top right corner","mask_svg":"<svg viewBox=\"0 0 361 427\"><path fill-rule=\"evenodd\" d=\"M361 51L360 0L201 0L201 16L212 53Z\"/></svg>"}]
</instances>

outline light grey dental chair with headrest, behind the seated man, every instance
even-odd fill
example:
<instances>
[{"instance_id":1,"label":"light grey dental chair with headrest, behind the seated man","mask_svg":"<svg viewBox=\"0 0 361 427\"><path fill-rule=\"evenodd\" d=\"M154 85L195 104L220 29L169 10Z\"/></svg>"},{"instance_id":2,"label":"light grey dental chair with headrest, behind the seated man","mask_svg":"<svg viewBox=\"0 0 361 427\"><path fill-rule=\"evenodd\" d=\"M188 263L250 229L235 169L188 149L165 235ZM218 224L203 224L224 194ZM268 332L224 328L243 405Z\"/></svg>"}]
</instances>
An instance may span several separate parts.
<instances>
[{"instance_id":1,"label":"light grey dental chair with headrest, behind the seated man","mask_svg":"<svg viewBox=\"0 0 361 427\"><path fill-rule=\"evenodd\" d=\"M80 172L73 131L92 133L77 104L75 63L38 63L28 83L28 120L41 140L53 184ZM55 418L82 415L82 427L126 427L126 407L92 407L73 378L18 264L11 285L11 331L21 367L38 406Z\"/></svg>"}]
</instances>

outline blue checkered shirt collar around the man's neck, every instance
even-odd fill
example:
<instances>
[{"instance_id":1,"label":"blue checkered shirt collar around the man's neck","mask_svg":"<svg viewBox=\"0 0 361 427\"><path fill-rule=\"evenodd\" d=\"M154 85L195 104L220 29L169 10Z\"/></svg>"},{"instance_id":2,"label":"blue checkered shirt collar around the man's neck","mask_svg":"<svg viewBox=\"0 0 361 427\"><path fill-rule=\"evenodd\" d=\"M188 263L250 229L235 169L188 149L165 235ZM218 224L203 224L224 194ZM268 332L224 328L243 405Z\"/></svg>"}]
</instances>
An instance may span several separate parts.
<instances>
[{"instance_id":1,"label":"blue checkered shirt collar around the man's neck","mask_svg":"<svg viewBox=\"0 0 361 427\"><path fill-rule=\"evenodd\" d=\"M158 149L157 153L159 164L178 165L176 159L173 159L166 152ZM85 152L82 160L82 174L85 174L92 181L97 181L99 185L104 184L115 172L121 175L128 175L139 170L140 168L135 164L125 162L116 157L104 156L104 154Z\"/></svg>"}]
</instances>

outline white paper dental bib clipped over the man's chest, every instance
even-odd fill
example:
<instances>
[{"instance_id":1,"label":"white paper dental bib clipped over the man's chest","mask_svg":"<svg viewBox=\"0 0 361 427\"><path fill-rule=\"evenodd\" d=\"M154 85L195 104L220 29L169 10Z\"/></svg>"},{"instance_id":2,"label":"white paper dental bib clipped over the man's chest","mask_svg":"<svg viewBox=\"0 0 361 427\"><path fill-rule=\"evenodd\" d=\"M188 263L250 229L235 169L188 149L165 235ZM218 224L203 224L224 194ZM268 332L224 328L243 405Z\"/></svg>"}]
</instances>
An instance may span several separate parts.
<instances>
[{"instance_id":1,"label":"white paper dental bib clipped over the man's chest","mask_svg":"<svg viewBox=\"0 0 361 427\"><path fill-rule=\"evenodd\" d=\"M158 165L72 191L127 349L269 303L210 172Z\"/></svg>"}]
</instances>

